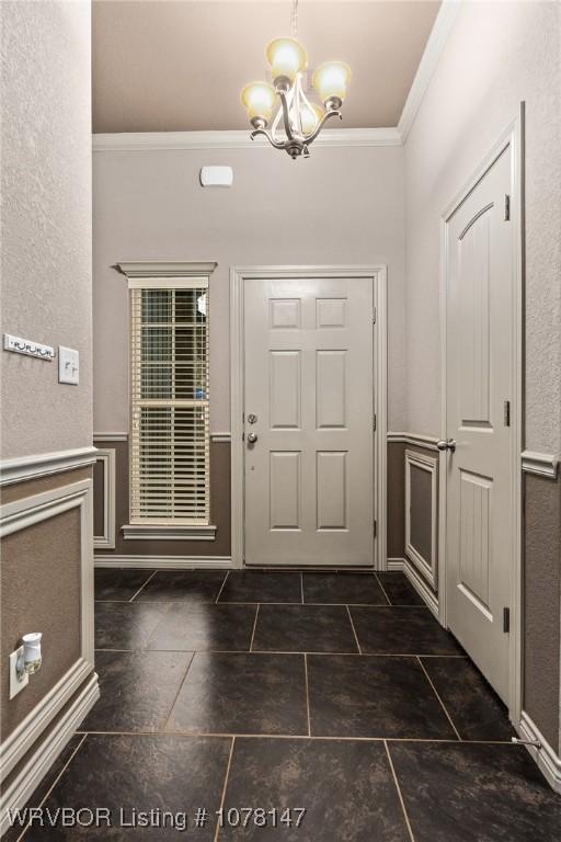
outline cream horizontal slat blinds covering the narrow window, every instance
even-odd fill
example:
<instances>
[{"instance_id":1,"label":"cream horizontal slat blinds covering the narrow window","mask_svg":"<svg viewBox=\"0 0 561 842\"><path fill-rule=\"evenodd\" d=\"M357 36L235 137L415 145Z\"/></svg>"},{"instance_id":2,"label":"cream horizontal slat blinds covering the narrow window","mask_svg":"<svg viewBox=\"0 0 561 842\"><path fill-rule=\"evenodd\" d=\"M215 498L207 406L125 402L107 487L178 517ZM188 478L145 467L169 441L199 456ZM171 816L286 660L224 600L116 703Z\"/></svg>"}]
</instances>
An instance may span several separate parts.
<instances>
[{"instance_id":1,"label":"cream horizontal slat blinds covering the narrow window","mask_svg":"<svg viewBox=\"0 0 561 842\"><path fill-rule=\"evenodd\" d=\"M208 524L208 278L130 289L130 521Z\"/></svg>"}]
</instances>

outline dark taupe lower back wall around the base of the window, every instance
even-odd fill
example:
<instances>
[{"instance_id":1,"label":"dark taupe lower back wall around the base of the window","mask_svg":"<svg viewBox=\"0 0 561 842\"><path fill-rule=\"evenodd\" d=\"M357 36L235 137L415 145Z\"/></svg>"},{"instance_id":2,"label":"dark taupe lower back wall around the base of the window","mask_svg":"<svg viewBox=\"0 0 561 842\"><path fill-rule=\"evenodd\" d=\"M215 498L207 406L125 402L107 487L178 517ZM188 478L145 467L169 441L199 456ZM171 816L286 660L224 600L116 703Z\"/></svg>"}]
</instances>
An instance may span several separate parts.
<instances>
[{"instance_id":1,"label":"dark taupe lower back wall around the base of the window","mask_svg":"<svg viewBox=\"0 0 561 842\"><path fill-rule=\"evenodd\" d=\"M115 549L96 547L96 558L111 559L112 554L127 556L229 556L231 546L230 515L230 443L210 441L210 523L215 541L135 541L123 537L122 526L129 523L128 442L103 440L104 447L116 455ZM100 491L101 486L101 491ZM94 475L94 500L103 511L103 476ZM98 533L96 533L98 534Z\"/></svg>"}]
</instances>

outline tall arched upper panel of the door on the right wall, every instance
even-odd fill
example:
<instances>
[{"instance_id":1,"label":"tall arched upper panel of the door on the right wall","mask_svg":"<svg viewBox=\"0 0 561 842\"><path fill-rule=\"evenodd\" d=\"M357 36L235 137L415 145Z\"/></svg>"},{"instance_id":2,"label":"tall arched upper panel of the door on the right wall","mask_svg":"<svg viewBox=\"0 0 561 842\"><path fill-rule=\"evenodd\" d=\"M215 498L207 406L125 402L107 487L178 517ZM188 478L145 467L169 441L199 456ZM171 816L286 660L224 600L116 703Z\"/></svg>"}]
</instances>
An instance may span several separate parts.
<instances>
[{"instance_id":1,"label":"tall arched upper panel of the door on the right wall","mask_svg":"<svg viewBox=\"0 0 561 842\"><path fill-rule=\"evenodd\" d=\"M463 232L459 243L460 423L490 426L490 209Z\"/></svg>"}]
</instances>

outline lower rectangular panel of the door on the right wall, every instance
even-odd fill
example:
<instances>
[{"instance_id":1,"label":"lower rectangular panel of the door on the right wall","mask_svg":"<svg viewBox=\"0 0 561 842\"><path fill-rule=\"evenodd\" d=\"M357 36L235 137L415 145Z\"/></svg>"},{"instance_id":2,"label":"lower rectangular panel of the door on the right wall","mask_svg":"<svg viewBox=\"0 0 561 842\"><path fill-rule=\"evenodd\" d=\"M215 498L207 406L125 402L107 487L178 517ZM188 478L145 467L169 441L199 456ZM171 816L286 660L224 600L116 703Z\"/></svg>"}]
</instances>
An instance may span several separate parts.
<instances>
[{"instance_id":1,"label":"lower rectangular panel of the door on the right wall","mask_svg":"<svg viewBox=\"0 0 561 842\"><path fill-rule=\"evenodd\" d=\"M460 471L460 584L489 607L493 480Z\"/></svg>"}]
</instances>

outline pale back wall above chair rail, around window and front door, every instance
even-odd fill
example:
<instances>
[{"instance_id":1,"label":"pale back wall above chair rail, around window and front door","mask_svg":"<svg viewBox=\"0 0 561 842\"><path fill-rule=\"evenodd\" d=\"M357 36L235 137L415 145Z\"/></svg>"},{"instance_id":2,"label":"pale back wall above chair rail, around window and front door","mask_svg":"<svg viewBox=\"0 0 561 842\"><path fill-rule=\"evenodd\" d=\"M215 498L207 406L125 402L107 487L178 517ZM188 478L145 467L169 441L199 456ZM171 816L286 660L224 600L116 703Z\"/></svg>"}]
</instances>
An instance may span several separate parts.
<instances>
[{"instance_id":1,"label":"pale back wall above chair rail, around window and front door","mask_svg":"<svg viewBox=\"0 0 561 842\"><path fill-rule=\"evenodd\" d=\"M210 280L211 430L230 429L229 269L251 264L389 266L389 423L403 405L403 149L270 147L94 152L94 429L128 429L123 259L217 260ZM203 189L203 164L231 164L230 190Z\"/></svg>"}]
</instances>

